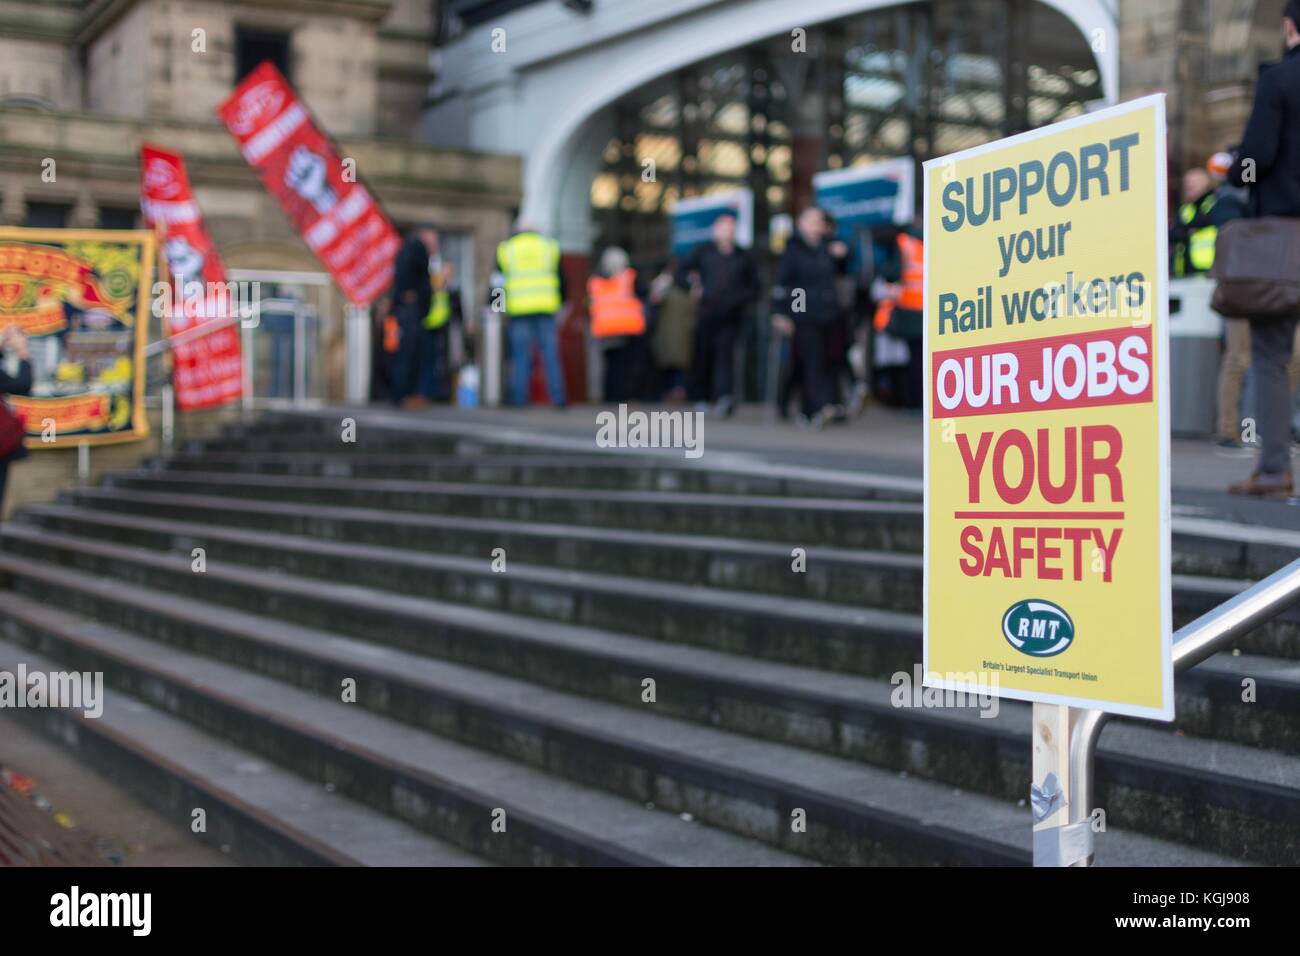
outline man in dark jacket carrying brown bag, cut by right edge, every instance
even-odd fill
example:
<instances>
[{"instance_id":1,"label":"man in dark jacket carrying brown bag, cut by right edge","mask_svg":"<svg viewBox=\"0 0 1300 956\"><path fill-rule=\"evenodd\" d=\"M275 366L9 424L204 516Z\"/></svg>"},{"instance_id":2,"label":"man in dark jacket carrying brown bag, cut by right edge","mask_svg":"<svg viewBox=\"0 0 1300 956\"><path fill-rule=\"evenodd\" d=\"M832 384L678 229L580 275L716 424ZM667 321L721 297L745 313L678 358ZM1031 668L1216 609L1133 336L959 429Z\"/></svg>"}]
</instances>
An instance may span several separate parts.
<instances>
[{"instance_id":1,"label":"man in dark jacket carrying brown bag, cut by right edge","mask_svg":"<svg viewBox=\"0 0 1300 956\"><path fill-rule=\"evenodd\" d=\"M1300 0L1287 1L1282 39L1282 60L1260 68L1251 118L1228 174L1234 186L1251 187L1253 216L1300 217ZM1287 364L1295 332L1295 317L1251 321L1261 450L1254 473L1228 488L1234 494L1286 498L1294 493Z\"/></svg>"}]
</instances>

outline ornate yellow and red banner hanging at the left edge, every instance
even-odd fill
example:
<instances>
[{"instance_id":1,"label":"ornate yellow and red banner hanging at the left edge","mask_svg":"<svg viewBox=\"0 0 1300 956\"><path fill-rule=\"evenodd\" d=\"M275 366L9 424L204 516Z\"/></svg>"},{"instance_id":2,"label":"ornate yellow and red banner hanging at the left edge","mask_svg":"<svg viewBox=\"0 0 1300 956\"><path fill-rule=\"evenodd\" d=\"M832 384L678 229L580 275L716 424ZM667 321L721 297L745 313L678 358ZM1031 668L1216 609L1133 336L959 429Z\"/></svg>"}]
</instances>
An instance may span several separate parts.
<instances>
[{"instance_id":1,"label":"ornate yellow and red banner hanging at the left edge","mask_svg":"<svg viewBox=\"0 0 1300 956\"><path fill-rule=\"evenodd\" d=\"M27 447L148 434L144 339L155 239L148 232L0 229L0 328L29 337L32 389L8 397Z\"/></svg>"}]
</instances>

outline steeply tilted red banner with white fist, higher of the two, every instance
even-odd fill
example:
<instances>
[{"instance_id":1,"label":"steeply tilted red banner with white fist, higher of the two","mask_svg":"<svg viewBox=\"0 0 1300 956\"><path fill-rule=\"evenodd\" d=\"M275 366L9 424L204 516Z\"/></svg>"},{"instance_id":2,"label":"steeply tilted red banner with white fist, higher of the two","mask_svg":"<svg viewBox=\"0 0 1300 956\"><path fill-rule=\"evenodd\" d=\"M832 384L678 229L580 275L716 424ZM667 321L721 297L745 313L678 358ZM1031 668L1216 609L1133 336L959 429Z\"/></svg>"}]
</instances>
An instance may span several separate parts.
<instances>
[{"instance_id":1,"label":"steeply tilted red banner with white fist, higher of the two","mask_svg":"<svg viewBox=\"0 0 1300 956\"><path fill-rule=\"evenodd\" d=\"M250 73L217 113L343 294L369 304L391 281L400 237L274 64Z\"/></svg>"}]
</instances>

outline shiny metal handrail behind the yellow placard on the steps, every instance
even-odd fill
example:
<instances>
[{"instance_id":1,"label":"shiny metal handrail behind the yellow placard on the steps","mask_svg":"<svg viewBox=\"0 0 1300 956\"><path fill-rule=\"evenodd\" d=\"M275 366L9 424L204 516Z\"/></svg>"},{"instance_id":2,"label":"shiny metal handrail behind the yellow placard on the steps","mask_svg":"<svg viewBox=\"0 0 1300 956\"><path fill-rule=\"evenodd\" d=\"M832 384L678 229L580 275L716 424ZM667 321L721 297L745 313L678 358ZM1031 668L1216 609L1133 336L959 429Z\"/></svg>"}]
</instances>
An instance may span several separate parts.
<instances>
[{"instance_id":1,"label":"shiny metal handrail behind the yellow placard on the steps","mask_svg":"<svg viewBox=\"0 0 1300 956\"><path fill-rule=\"evenodd\" d=\"M1235 637L1277 617L1297 600L1300 558L1175 631L1174 672L1182 674L1213 657ZM1097 740L1109 717L1101 710L1083 710L1070 731L1070 786L1075 796L1070 805L1071 823L1082 823L1092 814ZM1091 866L1092 856L1074 865Z\"/></svg>"}]
</instances>

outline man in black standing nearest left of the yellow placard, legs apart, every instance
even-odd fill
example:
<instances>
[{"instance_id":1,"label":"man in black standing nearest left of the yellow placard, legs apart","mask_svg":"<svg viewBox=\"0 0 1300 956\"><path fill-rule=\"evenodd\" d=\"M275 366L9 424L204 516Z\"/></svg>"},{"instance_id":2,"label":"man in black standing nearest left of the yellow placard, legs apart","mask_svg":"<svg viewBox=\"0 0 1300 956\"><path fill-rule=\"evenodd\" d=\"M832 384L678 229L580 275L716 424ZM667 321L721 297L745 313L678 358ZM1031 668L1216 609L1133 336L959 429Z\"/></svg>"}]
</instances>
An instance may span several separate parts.
<instances>
[{"instance_id":1,"label":"man in black standing nearest left of the yellow placard, legs apart","mask_svg":"<svg viewBox=\"0 0 1300 956\"><path fill-rule=\"evenodd\" d=\"M793 338L790 368L780 389L784 405L793 384L800 390L800 424L822 428L835 416L829 349L842 321L836 276L848 265L849 248L831 241L826 213L810 206L800 213L772 286L772 326Z\"/></svg>"}]
</instances>

